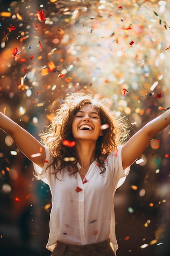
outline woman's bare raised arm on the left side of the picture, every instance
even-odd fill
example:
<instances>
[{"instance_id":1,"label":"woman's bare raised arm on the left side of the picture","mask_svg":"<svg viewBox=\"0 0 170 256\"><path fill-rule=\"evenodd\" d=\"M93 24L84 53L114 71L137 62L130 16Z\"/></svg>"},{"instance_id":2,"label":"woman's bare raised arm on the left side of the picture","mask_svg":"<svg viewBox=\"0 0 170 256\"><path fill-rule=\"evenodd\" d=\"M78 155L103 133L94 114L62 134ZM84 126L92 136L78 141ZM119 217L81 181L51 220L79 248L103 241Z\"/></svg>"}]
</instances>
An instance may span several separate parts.
<instances>
[{"instance_id":1,"label":"woman's bare raised arm on the left side of the picture","mask_svg":"<svg viewBox=\"0 0 170 256\"><path fill-rule=\"evenodd\" d=\"M9 134L22 153L31 161L38 164L40 167L44 166L45 148L35 139L29 132L24 130L21 126L12 121L9 117L0 112L0 128ZM35 154L41 153L36 156Z\"/></svg>"}]
</instances>

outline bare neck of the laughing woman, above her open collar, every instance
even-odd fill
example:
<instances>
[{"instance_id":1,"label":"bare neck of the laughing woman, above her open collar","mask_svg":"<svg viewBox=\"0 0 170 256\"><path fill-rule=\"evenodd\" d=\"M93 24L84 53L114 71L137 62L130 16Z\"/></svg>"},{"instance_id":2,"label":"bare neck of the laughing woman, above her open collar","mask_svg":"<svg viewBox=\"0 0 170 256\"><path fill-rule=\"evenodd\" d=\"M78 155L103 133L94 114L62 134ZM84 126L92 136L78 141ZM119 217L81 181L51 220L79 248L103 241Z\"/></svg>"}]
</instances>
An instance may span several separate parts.
<instances>
[{"instance_id":1,"label":"bare neck of the laughing woman, above her open collar","mask_svg":"<svg viewBox=\"0 0 170 256\"><path fill-rule=\"evenodd\" d=\"M88 143L88 141L76 141L76 151L79 164L83 168L88 168L95 160L96 143Z\"/></svg>"}]
</instances>

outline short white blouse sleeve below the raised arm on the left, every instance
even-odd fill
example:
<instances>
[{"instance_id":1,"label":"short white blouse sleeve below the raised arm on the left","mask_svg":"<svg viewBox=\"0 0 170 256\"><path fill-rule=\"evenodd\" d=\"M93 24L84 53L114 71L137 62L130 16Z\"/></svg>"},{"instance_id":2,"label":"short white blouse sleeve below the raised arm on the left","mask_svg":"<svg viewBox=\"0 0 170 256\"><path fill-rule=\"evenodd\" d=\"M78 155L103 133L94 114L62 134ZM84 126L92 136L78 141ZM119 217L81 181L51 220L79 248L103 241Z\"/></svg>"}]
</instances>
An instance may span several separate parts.
<instances>
[{"instance_id":1,"label":"short white blouse sleeve below the raised arm on the left","mask_svg":"<svg viewBox=\"0 0 170 256\"><path fill-rule=\"evenodd\" d=\"M46 153L46 161L44 162L44 167L41 168L40 166L38 166L37 164L33 163L33 167L35 169L35 172L37 173L38 177L40 178L40 180L42 180L43 182L45 182L46 184L49 185L49 180L50 180L50 171L49 169L47 169L48 164L51 162L52 160L52 155L50 153L49 148L45 147L45 153Z\"/></svg>"}]
</instances>

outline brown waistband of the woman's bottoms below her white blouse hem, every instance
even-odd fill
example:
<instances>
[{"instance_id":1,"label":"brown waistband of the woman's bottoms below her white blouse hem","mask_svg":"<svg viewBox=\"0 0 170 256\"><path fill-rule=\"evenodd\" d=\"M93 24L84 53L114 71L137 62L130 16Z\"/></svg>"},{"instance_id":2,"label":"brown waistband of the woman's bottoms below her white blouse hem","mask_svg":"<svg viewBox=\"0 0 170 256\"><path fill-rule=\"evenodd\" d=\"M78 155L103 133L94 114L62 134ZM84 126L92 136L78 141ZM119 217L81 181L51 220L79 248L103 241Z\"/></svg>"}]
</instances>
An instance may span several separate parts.
<instances>
[{"instance_id":1,"label":"brown waistband of the woman's bottoms below her white blouse hem","mask_svg":"<svg viewBox=\"0 0 170 256\"><path fill-rule=\"evenodd\" d=\"M75 253L82 253L82 252L93 252L93 251L98 251L102 252L103 249L106 249L107 247L110 247L110 242L109 239L95 243L95 244L87 244L87 245L70 245L66 243L62 243L60 241L57 241L57 246L56 248L65 252L75 252Z\"/></svg>"}]
</instances>

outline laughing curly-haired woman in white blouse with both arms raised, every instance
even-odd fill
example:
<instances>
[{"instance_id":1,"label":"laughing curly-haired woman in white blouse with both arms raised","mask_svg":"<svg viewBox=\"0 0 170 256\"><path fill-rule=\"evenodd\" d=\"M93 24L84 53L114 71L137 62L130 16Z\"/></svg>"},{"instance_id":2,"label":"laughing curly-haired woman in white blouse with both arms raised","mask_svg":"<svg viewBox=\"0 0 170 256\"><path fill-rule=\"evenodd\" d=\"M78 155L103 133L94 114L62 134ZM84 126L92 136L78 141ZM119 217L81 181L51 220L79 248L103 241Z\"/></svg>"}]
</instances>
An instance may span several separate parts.
<instances>
[{"instance_id":1,"label":"laughing curly-haired woman in white blouse with both arms raised","mask_svg":"<svg viewBox=\"0 0 170 256\"><path fill-rule=\"evenodd\" d=\"M126 143L127 126L107 100L84 92L69 94L41 142L0 113L0 127L34 163L51 189L47 249L52 256L114 256L113 197L130 165L152 138L170 124L170 110L146 124ZM113 248L113 249L112 249Z\"/></svg>"}]
</instances>

